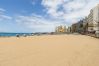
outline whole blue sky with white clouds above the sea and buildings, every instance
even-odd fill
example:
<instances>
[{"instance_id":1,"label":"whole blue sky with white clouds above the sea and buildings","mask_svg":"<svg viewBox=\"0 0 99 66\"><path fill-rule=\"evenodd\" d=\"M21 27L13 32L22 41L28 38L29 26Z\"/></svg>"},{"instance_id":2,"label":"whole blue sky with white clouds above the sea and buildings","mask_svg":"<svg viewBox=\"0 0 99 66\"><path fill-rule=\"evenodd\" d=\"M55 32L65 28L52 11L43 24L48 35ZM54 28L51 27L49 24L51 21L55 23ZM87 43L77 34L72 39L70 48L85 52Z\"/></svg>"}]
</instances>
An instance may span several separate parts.
<instances>
[{"instance_id":1,"label":"whole blue sky with white clouds above the sea and buildings","mask_svg":"<svg viewBox=\"0 0 99 66\"><path fill-rule=\"evenodd\" d=\"M52 32L85 18L99 0L0 0L0 32Z\"/></svg>"}]
</instances>

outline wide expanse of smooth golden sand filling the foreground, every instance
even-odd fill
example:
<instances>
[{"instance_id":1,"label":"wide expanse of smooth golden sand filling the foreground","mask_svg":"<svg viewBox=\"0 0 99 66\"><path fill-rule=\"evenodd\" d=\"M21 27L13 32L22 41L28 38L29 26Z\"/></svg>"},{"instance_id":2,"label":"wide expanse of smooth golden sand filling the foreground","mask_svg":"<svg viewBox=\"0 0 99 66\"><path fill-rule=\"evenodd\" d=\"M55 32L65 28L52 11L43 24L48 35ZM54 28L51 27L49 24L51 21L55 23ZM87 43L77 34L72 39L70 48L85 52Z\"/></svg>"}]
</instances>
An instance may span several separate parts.
<instances>
[{"instance_id":1,"label":"wide expanse of smooth golden sand filling the foreground","mask_svg":"<svg viewBox=\"0 0 99 66\"><path fill-rule=\"evenodd\" d=\"M99 66L99 39L84 35L1 37L0 66Z\"/></svg>"}]
</instances>

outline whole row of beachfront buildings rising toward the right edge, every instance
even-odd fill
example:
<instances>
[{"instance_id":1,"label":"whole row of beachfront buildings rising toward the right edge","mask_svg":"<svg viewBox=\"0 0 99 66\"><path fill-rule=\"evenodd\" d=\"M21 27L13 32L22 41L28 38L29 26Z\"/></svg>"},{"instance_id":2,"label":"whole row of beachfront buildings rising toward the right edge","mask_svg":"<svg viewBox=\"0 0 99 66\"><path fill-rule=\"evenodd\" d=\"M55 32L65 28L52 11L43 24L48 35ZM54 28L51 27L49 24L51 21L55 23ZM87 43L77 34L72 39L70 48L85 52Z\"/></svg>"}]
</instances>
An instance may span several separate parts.
<instances>
[{"instance_id":1,"label":"whole row of beachfront buildings rising toward the right edge","mask_svg":"<svg viewBox=\"0 0 99 66\"><path fill-rule=\"evenodd\" d=\"M99 4L84 19L71 25L71 32L94 34L99 37Z\"/></svg>"}]
</instances>

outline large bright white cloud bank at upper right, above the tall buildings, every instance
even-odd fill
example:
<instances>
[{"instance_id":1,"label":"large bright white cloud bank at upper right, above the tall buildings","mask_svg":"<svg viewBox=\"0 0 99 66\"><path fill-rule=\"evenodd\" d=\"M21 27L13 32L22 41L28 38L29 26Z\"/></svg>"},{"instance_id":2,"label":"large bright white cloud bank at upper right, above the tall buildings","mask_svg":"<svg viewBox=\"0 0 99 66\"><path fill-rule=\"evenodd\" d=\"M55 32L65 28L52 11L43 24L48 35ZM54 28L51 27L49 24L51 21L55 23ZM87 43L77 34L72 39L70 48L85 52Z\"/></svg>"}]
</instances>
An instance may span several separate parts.
<instances>
[{"instance_id":1,"label":"large bright white cloud bank at upper right, above the tall buildings","mask_svg":"<svg viewBox=\"0 0 99 66\"><path fill-rule=\"evenodd\" d=\"M42 5L47 14L53 18L71 20L73 23L79 18L89 14L90 9L95 7L99 0L43 0ZM59 10L60 9L60 10Z\"/></svg>"}]
</instances>

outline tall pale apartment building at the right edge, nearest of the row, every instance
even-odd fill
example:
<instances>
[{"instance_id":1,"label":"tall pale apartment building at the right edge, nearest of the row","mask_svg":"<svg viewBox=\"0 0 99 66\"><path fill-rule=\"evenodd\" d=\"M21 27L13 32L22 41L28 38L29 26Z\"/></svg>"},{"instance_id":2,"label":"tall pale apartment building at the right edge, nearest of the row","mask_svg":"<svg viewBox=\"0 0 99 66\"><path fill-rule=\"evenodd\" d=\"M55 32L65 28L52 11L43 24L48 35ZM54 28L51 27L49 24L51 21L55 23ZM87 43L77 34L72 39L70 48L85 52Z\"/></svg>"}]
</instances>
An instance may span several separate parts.
<instances>
[{"instance_id":1,"label":"tall pale apartment building at the right edge, nearest of the row","mask_svg":"<svg viewBox=\"0 0 99 66\"><path fill-rule=\"evenodd\" d=\"M88 15L88 31L97 31L99 30L98 22L99 22L99 4L90 10L90 14Z\"/></svg>"}]
</instances>

